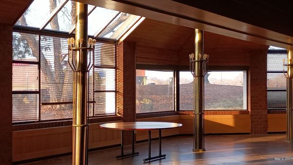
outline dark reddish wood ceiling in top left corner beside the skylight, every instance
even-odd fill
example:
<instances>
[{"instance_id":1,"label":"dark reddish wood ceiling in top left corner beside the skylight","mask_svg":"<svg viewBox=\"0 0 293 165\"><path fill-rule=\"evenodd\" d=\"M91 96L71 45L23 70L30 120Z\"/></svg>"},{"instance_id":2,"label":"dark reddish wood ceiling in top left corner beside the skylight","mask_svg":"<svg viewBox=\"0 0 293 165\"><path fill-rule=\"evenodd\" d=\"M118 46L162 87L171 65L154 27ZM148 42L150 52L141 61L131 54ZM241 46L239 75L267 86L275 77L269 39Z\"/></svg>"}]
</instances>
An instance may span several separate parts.
<instances>
[{"instance_id":1,"label":"dark reddish wood ceiling in top left corner beside the skylight","mask_svg":"<svg viewBox=\"0 0 293 165\"><path fill-rule=\"evenodd\" d=\"M0 23L14 24L32 0L0 0Z\"/></svg>"}]
</instances>

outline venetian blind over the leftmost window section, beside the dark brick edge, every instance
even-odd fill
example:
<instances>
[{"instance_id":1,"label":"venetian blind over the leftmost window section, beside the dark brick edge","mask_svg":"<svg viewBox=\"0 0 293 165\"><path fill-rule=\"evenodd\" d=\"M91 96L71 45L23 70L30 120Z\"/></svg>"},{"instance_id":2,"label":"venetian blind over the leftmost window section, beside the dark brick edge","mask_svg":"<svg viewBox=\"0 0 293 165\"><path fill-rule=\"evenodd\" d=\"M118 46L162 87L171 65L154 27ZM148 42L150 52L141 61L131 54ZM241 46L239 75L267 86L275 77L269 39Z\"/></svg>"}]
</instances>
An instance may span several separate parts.
<instances>
[{"instance_id":1,"label":"venetian blind over the leftmost window section, beside the dark brick edge","mask_svg":"<svg viewBox=\"0 0 293 165\"><path fill-rule=\"evenodd\" d=\"M13 32L12 122L39 119L38 35Z\"/></svg>"}]
</instances>

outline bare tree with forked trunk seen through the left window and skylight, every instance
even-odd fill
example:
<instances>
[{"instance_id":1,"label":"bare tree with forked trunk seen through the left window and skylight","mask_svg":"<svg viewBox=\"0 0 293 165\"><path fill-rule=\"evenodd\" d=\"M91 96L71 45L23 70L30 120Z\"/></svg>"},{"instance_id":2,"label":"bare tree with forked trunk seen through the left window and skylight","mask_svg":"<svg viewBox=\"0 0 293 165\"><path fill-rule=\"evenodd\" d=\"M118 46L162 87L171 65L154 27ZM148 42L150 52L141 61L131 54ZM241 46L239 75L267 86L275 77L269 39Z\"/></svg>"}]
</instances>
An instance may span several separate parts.
<instances>
[{"instance_id":1,"label":"bare tree with forked trunk seen through the left window and skylight","mask_svg":"<svg viewBox=\"0 0 293 165\"><path fill-rule=\"evenodd\" d=\"M75 23L75 2L72 2L71 5L73 8L71 9L71 12L69 15L72 17L72 22ZM49 0L49 8L50 13L54 11L54 9L57 7L57 0ZM20 24L23 26L27 26L27 21L25 19L25 14L21 16ZM50 21L50 26L52 30L60 30L58 17L56 16L52 21ZM26 49L31 50L31 55L38 58L39 56L39 42L32 37L29 37L27 35L21 35L21 40L23 44L26 44L24 47ZM48 40L45 37L42 37L42 40ZM54 50L54 60L46 59L46 56L44 55L43 51L47 51L50 49L49 47L42 47L40 56L41 56L41 62L42 62L42 74L45 76L45 80L47 80L49 83L48 92L50 94L49 101L56 101L56 102L64 102L68 100L68 97L70 97L70 92L68 88L72 87L71 80L72 80L72 71L68 64L66 67L63 67L64 63L67 63L65 61L67 57L66 54L62 54L62 40L60 38L52 38L53 41L53 50ZM17 46L17 45L16 45ZM15 49L14 51L18 51L18 53L15 53L17 58L24 58L21 52L18 49ZM27 53L27 51L26 51ZM54 63L54 66L52 66L52 63ZM48 101L48 100L46 100ZM58 108L67 108L66 105L52 105L51 108L58 109Z\"/></svg>"}]
</instances>

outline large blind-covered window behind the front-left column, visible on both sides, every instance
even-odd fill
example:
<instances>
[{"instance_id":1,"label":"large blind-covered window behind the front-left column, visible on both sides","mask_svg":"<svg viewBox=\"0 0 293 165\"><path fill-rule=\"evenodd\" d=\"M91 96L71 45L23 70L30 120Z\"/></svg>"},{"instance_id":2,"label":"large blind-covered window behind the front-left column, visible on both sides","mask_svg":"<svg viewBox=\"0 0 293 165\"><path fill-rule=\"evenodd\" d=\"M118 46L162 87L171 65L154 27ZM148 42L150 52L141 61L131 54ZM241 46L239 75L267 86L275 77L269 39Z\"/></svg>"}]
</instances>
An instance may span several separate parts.
<instances>
[{"instance_id":1,"label":"large blind-covered window behind the front-left column, visible on both sides","mask_svg":"<svg viewBox=\"0 0 293 165\"><path fill-rule=\"evenodd\" d=\"M97 42L89 73L90 116L115 114L115 44ZM73 71L64 38L13 33L13 122L72 118Z\"/></svg>"}]
</instances>

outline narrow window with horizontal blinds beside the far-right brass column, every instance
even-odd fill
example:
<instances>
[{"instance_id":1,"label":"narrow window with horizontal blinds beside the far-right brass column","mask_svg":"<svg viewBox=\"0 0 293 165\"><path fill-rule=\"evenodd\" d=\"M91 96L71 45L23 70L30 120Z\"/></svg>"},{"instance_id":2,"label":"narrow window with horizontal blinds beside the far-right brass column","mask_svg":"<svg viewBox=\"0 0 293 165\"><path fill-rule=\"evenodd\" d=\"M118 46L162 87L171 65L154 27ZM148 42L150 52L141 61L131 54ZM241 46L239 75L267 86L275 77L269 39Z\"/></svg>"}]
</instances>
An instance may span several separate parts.
<instances>
[{"instance_id":1,"label":"narrow window with horizontal blinds beside the far-right brass column","mask_svg":"<svg viewBox=\"0 0 293 165\"><path fill-rule=\"evenodd\" d=\"M270 46L267 56L268 110L286 109L286 77L283 73L283 59L287 60L287 50ZM287 67L284 67L287 72Z\"/></svg>"}]
</instances>

